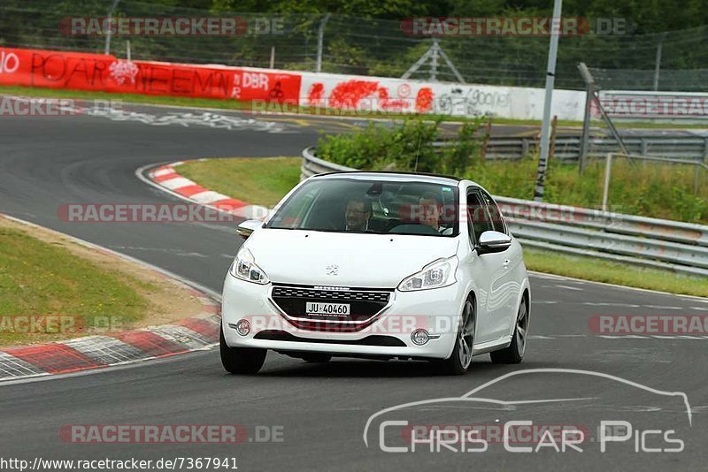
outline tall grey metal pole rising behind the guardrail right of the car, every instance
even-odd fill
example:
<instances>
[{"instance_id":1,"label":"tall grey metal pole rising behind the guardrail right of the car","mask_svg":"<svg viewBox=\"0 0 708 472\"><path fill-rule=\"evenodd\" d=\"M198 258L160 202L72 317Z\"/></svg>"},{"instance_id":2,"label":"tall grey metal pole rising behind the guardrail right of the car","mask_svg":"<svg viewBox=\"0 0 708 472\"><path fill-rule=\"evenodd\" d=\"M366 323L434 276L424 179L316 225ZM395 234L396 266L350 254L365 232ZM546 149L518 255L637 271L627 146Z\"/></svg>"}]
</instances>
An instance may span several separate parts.
<instances>
[{"instance_id":1,"label":"tall grey metal pole rising behind the guardrail right of the car","mask_svg":"<svg viewBox=\"0 0 708 472\"><path fill-rule=\"evenodd\" d=\"M543 202L543 191L546 183L546 167L550 146L550 103L553 98L553 83L556 79L556 58L558 57L558 38L560 36L560 11L563 0L554 0L553 19L550 29L550 45L548 50L548 67L546 69L546 97L543 103L543 124L541 125L541 156L536 172L536 187L534 200Z\"/></svg>"}]
</instances>

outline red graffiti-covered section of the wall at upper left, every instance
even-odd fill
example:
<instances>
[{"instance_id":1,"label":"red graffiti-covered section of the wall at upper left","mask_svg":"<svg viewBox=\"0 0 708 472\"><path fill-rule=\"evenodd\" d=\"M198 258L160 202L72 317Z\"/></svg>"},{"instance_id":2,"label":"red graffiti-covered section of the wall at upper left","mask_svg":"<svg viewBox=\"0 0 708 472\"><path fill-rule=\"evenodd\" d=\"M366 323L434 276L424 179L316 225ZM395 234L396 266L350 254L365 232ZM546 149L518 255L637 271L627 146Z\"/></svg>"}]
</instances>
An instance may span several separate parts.
<instances>
[{"instance_id":1,"label":"red graffiti-covered section of the wall at upper left","mask_svg":"<svg viewBox=\"0 0 708 472\"><path fill-rule=\"evenodd\" d=\"M2 48L0 61L2 85L289 103L300 95L297 73L39 49Z\"/></svg>"}]
</instances>

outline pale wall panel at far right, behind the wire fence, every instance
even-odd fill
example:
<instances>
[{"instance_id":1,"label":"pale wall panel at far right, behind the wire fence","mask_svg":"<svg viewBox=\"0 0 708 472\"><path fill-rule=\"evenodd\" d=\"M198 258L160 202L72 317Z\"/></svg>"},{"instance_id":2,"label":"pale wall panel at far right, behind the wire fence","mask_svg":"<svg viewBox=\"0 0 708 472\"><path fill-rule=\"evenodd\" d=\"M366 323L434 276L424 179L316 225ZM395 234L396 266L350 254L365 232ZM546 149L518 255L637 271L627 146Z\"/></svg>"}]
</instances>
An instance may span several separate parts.
<instances>
[{"instance_id":1,"label":"pale wall panel at far right, behind the wire fence","mask_svg":"<svg viewBox=\"0 0 708 472\"><path fill-rule=\"evenodd\" d=\"M708 118L708 94L684 92L600 92L600 103L612 118ZM596 104L593 116L599 116Z\"/></svg>"}]
</instances>

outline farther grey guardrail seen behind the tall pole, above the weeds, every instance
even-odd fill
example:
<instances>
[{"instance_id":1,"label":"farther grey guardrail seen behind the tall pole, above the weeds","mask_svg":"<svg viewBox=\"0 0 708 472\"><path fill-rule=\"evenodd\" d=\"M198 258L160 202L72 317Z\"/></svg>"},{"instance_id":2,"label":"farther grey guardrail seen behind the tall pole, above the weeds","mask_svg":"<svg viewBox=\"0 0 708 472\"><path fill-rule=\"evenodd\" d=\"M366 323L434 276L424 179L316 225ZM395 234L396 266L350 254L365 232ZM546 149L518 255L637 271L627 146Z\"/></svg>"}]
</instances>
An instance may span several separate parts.
<instances>
[{"instance_id":1,"label":"farther grey guardrail seen behind the tall pole, above the weeds","mask_svg":"<svg viewBox=\"0 0 708 472\"><path fill-rule=\"evenodd\" d=\"M492 136L487 144L487 159L520 159L538 149L535 136ZM645 136L623 137L627 152L639 156L658 156L688 159L708 163L708 137L701 136ZM450 146L455 141L438 141L437 147ZM558 136L555 141L554 159L576 160L581 153L580 136ZM612 138L590 138L589 156L607 156L610 152L620 152L620 145Z\"/></svg>"}]
</instances>

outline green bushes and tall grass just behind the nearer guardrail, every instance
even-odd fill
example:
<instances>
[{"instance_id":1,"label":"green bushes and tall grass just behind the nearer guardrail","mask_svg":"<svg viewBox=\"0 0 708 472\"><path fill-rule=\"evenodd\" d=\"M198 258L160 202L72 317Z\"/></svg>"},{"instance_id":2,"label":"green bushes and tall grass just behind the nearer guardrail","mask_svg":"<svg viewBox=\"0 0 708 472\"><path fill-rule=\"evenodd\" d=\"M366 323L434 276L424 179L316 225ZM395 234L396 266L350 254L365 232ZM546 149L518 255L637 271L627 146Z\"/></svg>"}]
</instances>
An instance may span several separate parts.
<instances>
[{"instance_id":1,"label":"green bushes and tall grass just behind the nearer guardrail","mask_svg":"<svg viewBox=\"0 0 708 472\"><path fill-rule=\"evenodd\" d=\"M530 200L534 195L538 156L520 160L484 160L486 139L481 119L458 129L458 144L435 148L439 121L406 118L395 127L370 124L358 133L319 140L318 156L356 169L434 172L473 180L489 192ZM708 223L708 179L694 189L694 169L658 163L612 164L610 209L618 213ZM588 165L581 176L577 164L551 159L545 201L585 208L602 203L604 161Z\"/></svg>"}]
</instances>

